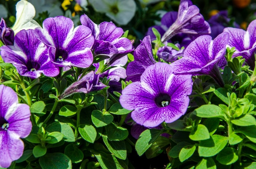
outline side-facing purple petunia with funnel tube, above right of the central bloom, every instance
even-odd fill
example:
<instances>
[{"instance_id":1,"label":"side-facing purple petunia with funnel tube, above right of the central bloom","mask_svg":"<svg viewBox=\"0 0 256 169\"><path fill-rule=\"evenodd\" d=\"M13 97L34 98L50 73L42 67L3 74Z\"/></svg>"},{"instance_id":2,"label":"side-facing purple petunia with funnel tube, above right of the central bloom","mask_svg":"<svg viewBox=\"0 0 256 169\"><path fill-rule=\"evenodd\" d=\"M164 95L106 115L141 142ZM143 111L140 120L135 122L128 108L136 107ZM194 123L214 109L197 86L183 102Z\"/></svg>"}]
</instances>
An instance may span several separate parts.
<instances>
[{"instance_id":1,"label":"side-facing purple petunia with funnel tube, above right of the central bloom","mask_svg":"<svg viewBox=\"0 0 256 169\"><path fill-rule=\"evenodd\" d=\"M184 51L184 57L174 61L174 74L210 75L220 86L224 86L219 67L227 64L225 59L228 33L221 33L214 40L210 35L195 39Z\"/></svg>"}]
</instances>

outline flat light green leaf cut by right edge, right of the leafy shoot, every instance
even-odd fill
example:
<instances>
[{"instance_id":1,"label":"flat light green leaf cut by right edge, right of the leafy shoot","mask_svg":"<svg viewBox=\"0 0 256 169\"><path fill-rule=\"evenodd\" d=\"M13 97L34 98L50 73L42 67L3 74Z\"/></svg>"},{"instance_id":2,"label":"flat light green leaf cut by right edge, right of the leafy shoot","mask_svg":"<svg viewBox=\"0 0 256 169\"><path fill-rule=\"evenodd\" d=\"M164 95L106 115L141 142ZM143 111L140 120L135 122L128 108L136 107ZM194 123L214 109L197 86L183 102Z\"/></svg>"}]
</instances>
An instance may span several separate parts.
<instances>
[{"instance_id":1,"label":"flat light green leaf cut by right edge, right of the leafy shoot","mask_svg":"<svg viewBox=\"0 0 256 169\"><path fill-rule=\"evenodd\" d=\"M239 118L231 120L231 123L238 126L249 126L256 125L256 120L251 114L245 114L244 116L239 116Z\"/></svg>"}]
</instances>

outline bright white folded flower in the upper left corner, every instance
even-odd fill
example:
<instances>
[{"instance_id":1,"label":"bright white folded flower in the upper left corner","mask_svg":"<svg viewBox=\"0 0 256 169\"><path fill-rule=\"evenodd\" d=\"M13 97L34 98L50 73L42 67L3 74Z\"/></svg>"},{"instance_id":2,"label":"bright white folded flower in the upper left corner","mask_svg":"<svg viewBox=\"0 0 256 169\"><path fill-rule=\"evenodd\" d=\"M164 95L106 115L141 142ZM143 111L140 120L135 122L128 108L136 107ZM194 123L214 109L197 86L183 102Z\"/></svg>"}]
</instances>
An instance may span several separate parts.
<instances>
[{"instance_id":1,"label":"bright white folded flower in the upper left corner","mask_svg":"<svg viewBox=\"0 0 256 169\"><path fill-rule=\"evenodd\" d=\"M26 0L20 0L16 4L16 22L12 29L14 33L18 33L22 29L36 29L40 25L33 20L36 15L34 6Z\"/></svg>"}]
</instances>

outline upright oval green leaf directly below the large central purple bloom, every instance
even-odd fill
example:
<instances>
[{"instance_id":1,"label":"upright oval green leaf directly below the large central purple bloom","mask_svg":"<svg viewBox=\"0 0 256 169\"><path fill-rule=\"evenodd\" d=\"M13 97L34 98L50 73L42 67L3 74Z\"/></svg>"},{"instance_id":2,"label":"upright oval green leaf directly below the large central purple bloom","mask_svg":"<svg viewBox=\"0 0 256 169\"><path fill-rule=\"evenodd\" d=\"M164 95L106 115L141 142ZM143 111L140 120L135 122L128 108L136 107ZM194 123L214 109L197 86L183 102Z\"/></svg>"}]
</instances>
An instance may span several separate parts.
<instances>
[{"instance_id":1,"label":"upright oval green leaf directly below the large central purple bloom","mask_svg":"<svg viewBox=\"0 0 256 169\"><path fill-rule=\"evenodd\" d=\"M139 135L139 139L135 144L135 149L139 156L142 156L144 152L155 142L158 136L162 133L159 129L146 129Z\"/></svg>"}]
</instances>

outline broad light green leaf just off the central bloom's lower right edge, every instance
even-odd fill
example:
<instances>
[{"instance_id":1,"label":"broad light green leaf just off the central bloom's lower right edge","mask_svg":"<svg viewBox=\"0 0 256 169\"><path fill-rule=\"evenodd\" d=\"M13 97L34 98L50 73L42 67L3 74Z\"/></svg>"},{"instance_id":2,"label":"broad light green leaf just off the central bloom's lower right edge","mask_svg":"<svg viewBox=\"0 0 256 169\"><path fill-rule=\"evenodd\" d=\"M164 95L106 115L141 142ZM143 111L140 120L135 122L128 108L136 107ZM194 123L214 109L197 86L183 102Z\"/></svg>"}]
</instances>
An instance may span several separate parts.
<instances>
[{"instance_id":1,"label":"broad light green leaf just off the central bloom's lower right edge","mask_svg":"<svg viewBox=\"0 0 256 169\"><path fill-rule=\"evenodd\" d=\"M199 117L213 118L218 117L220 119L227 119L225 112L218 105L202 105L200 108L194 110L195 114Z\"/></svg>"}]
</instances>

